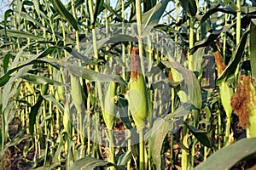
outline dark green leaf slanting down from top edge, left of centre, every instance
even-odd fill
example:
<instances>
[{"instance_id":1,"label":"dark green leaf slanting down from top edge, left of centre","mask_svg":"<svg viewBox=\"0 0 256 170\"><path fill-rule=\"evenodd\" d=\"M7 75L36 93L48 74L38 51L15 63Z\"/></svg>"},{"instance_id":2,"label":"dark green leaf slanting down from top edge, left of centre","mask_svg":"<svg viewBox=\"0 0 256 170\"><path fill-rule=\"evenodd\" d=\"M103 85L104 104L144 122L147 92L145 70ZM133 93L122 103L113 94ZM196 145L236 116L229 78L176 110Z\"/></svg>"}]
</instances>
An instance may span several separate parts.
<instances>
[{"instance_id":1,"label":"dark green leaf slanting down from top edge, left of centre","mask_svg":"<svg viewBox=\"0 0 256 170\"><path fill-rule=\"evenodd\" d=\"M61 3L60 0L50 0L50 2L54 5L54 8L56 9L56 11L59 14L61 14L61 16L63 16L67 20L67 22L71 26L73 26L73 28L76 31L79 31L78 22L75 20L75 18L73 18L73 15L67 11L67 8L64 7L63 3Z\"/></svg>"}]
</instances>

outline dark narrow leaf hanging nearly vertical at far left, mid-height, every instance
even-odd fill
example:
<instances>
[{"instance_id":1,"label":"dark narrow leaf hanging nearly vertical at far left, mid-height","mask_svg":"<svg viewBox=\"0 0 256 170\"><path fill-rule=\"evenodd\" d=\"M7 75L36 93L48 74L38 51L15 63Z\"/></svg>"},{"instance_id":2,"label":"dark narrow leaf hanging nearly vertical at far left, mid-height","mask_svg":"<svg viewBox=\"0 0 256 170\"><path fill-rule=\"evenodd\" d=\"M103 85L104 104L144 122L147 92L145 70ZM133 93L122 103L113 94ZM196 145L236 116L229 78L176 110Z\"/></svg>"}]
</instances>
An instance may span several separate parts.
<instances>
[{"instance_id":1,"label":"dark narrow leaf hanging nearly vertical at far left, mid-height","mask_svg":"<svg viewBox=\"0 0 256 170\"><path fill-rule=\"evenodd\" d=\"M33 133L34 133L34 125L36 122L36 117L38 115L39 108L43 101L44 101L44 98L41 95L39 95L37 103L32 106L31 111L29 113L29 131L30 131L30 134L32 135L32 137L33 137Z\"/></svg>"}]
</instances>

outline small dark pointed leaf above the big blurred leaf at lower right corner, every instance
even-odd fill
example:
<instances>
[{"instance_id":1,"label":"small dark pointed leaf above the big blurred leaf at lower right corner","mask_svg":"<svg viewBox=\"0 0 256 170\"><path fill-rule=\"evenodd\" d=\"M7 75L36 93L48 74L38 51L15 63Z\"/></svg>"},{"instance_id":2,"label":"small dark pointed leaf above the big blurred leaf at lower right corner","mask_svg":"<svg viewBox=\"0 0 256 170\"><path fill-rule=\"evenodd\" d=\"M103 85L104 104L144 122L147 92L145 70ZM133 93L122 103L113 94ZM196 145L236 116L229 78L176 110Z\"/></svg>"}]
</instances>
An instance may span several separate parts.
<instances>
[{"instance_id":1,"label":"small dark pointed leaf above the big blurred leaf at lower right corner","mask_svg":"<svg viewBox=\"0 0 256 170\"><path fill-rule=\"evenodd\" d=\"M195 138L201 142L201 144L203 144L209 148L212 148L212 141L207 136L207 132L201 131L191 125L188 125L186 122L184 122L184 123L189 128L190 132L195 136Z\"/></svg>"}]
</instances>

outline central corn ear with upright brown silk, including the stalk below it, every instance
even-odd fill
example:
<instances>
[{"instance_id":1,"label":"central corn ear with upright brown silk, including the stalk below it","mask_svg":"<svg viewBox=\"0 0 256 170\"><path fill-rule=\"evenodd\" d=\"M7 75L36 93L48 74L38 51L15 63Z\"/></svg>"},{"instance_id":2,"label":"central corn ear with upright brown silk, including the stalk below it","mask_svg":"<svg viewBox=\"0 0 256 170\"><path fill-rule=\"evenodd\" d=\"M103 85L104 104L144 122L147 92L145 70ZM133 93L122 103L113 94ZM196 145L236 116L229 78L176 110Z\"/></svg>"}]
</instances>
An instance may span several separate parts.
<instances>
[{"instance_id":1,"label":"central corn ear with upright brown silk, including the stalk below it","mask_svg":"<svg viewBox=\"0 0 256 170\"><path fill-rule=\"evenodd\" d=\"M139 49L133 48L131 52L131 79L129 82L128 103L131 116L139 133L139 162L140 169L145 169L144 162L144 133L143 127L148 116L148 98L146 82L141 72Z\"/></svg>"}]
</instances>

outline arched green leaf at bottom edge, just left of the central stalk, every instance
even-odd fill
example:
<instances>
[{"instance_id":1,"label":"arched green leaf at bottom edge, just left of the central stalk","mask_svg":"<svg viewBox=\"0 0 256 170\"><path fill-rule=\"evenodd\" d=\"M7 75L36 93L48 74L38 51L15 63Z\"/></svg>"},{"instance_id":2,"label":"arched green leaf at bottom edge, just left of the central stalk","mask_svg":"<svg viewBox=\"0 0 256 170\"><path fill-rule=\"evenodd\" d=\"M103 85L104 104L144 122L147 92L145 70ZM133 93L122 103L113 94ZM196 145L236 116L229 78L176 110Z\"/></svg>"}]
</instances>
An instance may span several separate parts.
<instances>
[{"instance_id":1,"label":"arched green leaf at bottom edge, just left of the central stalk","mask_svg":"<svg viewBox=\"0 0 256 170\"><path fill-rule=\"evenodd\" d=\"M117 166L108 161L103 161L96 159L95 157L85 156L78 161L73 162L70 169L80 169L80 170L93 170L95 167L111 167L114 166L117 170L125 170L125 167Z\"/></svg>"}]
</instances>

